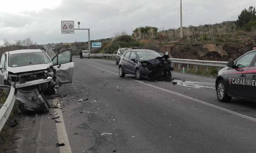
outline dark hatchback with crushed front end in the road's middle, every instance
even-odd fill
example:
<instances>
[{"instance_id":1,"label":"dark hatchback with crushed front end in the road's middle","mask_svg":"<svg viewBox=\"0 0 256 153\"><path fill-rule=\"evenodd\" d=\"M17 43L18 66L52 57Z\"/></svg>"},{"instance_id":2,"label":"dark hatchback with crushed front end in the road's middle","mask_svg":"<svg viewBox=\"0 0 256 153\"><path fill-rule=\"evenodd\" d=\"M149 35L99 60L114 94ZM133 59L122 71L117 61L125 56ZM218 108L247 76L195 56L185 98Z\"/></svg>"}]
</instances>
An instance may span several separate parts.
<instances>
[{"instance_id":1,"label":"dark hatchback with crushed front end in the road's middle","mask_svg":"<svg viewBox=\"0 0 256 153\"><path fill-rule=\"evenodd\" d=\"M166 80L172 78L171 60L152 50L129 50L121 57L119 76L135 75L136 79Z\"/></svg>"}]
</instances>

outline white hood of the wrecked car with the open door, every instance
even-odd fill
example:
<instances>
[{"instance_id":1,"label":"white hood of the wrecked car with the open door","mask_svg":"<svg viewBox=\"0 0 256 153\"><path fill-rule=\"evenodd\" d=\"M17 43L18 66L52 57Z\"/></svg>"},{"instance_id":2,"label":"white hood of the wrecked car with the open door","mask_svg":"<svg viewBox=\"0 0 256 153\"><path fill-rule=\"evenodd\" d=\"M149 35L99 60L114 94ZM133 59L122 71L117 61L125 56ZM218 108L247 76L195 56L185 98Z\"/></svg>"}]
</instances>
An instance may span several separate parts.
<instances>
[{"instance_id":1,"label":"white hood of the wrecked car with the open door","mask_svg":"<svg viewBox=\"0 0 256 153\"><path fill-rule=\"evenodd\" d=\"M20 72L29 72L29 71L36 71L36 70L45 70L48 69L53 64L47 63L47 64L35 64L35 65L28 65L24 67L8 67L7 71L12 73L20 73Z\"/></svg>"}]
</instances>

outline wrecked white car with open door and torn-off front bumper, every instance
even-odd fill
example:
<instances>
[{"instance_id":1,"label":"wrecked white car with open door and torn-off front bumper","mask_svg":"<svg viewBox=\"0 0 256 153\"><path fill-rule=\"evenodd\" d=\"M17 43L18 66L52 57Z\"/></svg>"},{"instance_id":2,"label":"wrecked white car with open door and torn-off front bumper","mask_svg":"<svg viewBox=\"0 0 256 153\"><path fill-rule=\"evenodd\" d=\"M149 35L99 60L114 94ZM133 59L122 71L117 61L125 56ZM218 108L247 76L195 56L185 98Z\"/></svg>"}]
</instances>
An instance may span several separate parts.
<instances>
[{"instance_id":1,"label":"wrecked white car with open door and torn-off front bumper","mask_svg":"<svg viewBox=\"0 0 256 153\"><path fill-rule=\"evenodd\" d=\"M69 56L59 58L64 52ZM17 89L21 111L48 111L50 106L43 93L54 93L60 84L72 82L74 62L70 55L70 49L52 60L39 49L5 52L0 61L0 84Z\"/></svg>"}]
</instances>

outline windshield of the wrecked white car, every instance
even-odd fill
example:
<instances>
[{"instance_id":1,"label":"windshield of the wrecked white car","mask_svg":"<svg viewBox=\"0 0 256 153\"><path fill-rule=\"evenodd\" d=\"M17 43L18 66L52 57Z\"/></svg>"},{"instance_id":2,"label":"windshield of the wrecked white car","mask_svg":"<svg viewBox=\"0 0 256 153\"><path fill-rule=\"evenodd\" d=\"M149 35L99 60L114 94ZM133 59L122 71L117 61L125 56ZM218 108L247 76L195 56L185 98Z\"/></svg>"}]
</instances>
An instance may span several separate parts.
<instances>
[{"instance_id":1,"label":"windshield of the wrecked white car","mask_svg":"<svg viewBox=\"0 0 256 153\"><path fill-rule=\"evenodd\" d=\"M43 52L31 52L9 55L9 67L23 67L35 64L47 64L49 57Z\"/></svg>"}]
</instances>

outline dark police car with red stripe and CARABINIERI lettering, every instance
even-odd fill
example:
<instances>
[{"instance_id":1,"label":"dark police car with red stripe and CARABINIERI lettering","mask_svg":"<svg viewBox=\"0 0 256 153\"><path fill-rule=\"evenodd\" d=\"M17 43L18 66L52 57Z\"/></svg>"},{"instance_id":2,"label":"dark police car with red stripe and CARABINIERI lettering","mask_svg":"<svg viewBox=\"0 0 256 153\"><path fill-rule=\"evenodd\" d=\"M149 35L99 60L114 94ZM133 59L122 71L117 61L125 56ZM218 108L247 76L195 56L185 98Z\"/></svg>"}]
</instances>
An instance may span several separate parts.
<instances>
[{"instance_id":1,"label":"dark police car with red stripe and CARABINIERI lettering","mask_svg":"<svg viewBox=\"0 0 256 153\"><path fill-rule=\"evenodd\" d=\"M220 102L229 102L232 97L256 100L256 50L228 62L216 78L217 97Z\"/></svg>"}]
</instances>

